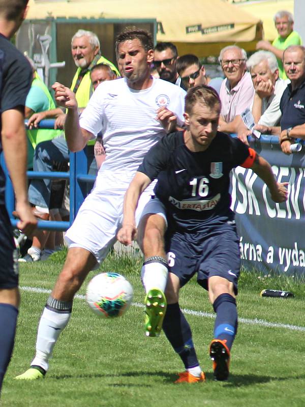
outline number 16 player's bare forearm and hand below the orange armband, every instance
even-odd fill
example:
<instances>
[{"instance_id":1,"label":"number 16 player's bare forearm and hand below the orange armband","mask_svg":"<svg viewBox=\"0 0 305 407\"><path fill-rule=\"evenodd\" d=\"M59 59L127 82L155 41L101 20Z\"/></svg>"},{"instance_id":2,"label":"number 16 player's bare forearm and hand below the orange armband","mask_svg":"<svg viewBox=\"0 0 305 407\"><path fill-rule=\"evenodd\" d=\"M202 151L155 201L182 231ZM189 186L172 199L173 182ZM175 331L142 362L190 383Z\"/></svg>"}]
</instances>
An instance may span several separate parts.
<instances>
[{"instance_id":1,"label":"number 16 player's bare forearm and hand below the orange armband","mask_svg":"<svg viewBox=\"0 0 305 407\"><path fill-rule=\"evenodd\" d=\"M287 200L288 192L286 185L288 185L288 182L277 182L270 164L264 158L256 154L251 169L267 185L273 201L284 202Z\"/></svg>"}]
</instances>

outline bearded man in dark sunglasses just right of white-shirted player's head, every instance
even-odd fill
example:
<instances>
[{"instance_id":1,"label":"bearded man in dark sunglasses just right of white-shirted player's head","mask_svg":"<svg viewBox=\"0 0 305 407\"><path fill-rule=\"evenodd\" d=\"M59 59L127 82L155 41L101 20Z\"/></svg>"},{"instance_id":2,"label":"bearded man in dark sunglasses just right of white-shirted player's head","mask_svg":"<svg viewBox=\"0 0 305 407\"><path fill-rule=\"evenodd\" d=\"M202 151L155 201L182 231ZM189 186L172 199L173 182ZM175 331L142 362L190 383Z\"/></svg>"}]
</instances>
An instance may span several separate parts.
<instances>
[{"instance_id":1,"label":"bearded man in dark sunglasses just right of white-shirted player's head","mask_svg":"<svg viewBox=\"0 0 305 407\"><path fill-rule=\"evenodd\" d=\"M158 42L155 46L154 65L160 79L181 86L181 79L176 68L177 59L178 51L173 43Z\"/></svg>"}]
</instances>

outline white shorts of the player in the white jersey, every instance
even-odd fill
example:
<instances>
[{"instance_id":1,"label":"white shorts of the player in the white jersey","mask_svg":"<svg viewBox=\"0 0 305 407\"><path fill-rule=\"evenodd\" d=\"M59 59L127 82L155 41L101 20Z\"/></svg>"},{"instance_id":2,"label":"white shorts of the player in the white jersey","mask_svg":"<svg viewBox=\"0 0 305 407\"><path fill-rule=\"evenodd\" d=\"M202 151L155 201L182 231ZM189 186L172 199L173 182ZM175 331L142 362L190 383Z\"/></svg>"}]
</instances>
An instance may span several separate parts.
<instances>
[{"instance_id":1,"label":"white shorts of the player in the white jersey","mask_svg":"<svg viewBox=\"0 0 305 407\"><path fill-rule=\"evenodd\" d=\"M136 224L153 192L144 191L136 210ZM124 195L92 192L83 201L65 240L69 248L81 247L91 252L98 264L107 256L116 241L123 221ZM98 265L97 265L98 267Z\"/></svg>"}]
</instances>

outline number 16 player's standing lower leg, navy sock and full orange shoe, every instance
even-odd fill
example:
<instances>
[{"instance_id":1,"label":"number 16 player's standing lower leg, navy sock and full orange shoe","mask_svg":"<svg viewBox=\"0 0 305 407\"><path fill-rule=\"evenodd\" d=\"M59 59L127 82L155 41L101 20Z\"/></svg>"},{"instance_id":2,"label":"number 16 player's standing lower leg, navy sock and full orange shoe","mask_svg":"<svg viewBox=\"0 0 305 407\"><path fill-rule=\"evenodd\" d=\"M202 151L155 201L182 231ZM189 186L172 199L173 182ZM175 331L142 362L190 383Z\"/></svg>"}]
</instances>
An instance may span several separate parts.
<instances>
[{"instance_id":1,"label":"number 16 player's standing lower leg, navy sock and full orange shoe","mask_svg":"<svg viewBox=\"0 0 305 407\"><path fill-rule=\"evenodd\" d=\"M168 305L163 321L163 330L186 369L179 373L179 379L175 383L203 382L205 376L196 356L191 328L179 307L179 289L179 278L173 273L168 273L165 290Z\"/></svg>"}]
</instances>

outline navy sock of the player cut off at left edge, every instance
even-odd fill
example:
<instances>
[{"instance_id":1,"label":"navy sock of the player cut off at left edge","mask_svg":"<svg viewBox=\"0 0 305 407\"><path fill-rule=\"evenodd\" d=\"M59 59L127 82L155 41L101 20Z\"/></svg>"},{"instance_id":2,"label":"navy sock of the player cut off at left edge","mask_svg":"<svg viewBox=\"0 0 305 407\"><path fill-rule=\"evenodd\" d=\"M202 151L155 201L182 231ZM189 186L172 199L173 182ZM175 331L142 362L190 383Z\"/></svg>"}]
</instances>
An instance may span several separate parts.
<instances>
[{"instance_id":1,"label":"navy sock of the player cut off at left edge","mask_svg":"<svg viewBox=\"0 0 305 407\"><path fill-rule=\"evenodd\" d=\"M16 307L0 303L0 390L13 352L17 316Z\"/></svg>"}]
</instances>

